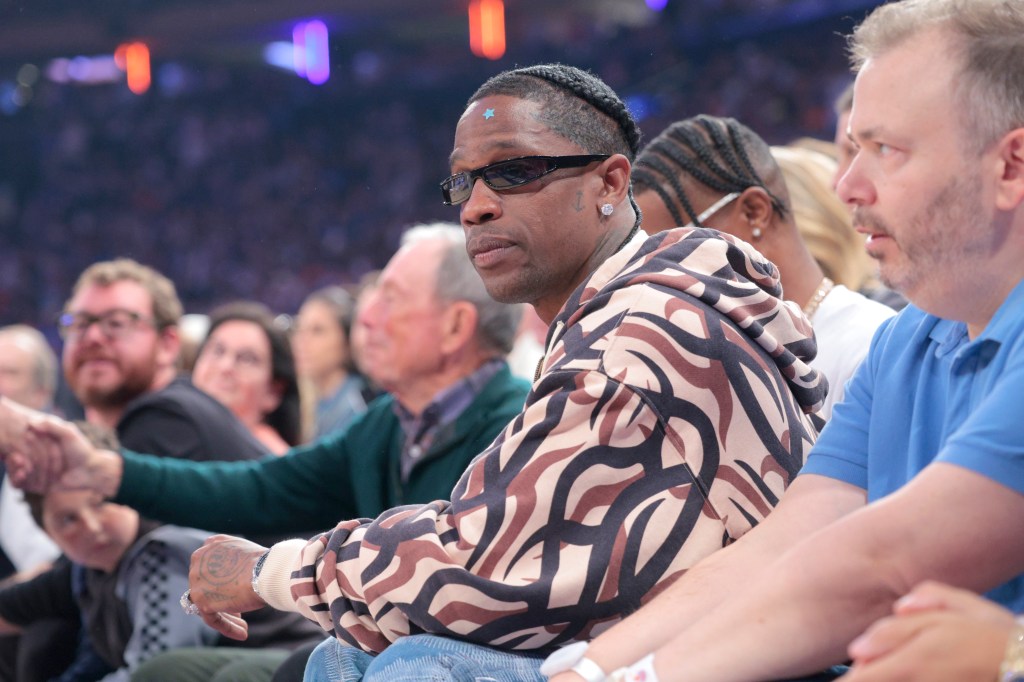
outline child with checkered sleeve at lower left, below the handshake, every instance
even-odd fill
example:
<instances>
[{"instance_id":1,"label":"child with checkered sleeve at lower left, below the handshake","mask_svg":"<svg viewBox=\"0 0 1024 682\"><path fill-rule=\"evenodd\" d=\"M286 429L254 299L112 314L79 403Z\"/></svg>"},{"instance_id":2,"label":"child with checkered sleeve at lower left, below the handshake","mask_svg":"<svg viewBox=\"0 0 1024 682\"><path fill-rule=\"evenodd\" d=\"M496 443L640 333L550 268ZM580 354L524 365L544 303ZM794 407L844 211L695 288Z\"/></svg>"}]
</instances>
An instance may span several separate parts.
<instances>
[{"instance_id":1,"label":"child with checkered sleeve at lower left, below the handshake","mask_svg":"<svg viewBox=\"0 0 1024 682\"><path fill-rule=\"evenodd\" d=\"M117 449L113 432L87 423L79 428L97 445ZM80 620L81 643L60 682L128 680L156 653L217 640L175 602L188 587L191 553L209 534L160 525L89 491L26 499L65 556L59 570L0 590L0 632L44 619Z\"/></svg>"}]
</instances>

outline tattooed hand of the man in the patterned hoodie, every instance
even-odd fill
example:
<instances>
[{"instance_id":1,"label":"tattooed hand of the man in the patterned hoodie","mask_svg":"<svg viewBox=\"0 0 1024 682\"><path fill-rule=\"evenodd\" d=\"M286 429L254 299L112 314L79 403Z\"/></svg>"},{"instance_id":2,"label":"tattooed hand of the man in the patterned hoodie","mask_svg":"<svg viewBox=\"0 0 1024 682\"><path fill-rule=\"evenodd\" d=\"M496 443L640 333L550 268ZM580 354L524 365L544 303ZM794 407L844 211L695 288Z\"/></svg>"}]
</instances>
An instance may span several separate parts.
<instances>
[{"instance_id":1,"label":"tattooed hand of the man in the patterned hoodie","mask_svg":"<svg viewBox=\"0 0 1024 682\"><path fill-rule=\"evenodd\" d=\"M191 600L211 628L231 639L248 636L240 613L265 605L253 592L256 560L266 548L231 536L211 536L193 553L188 569Z\"/></svg>"}]
</instances>

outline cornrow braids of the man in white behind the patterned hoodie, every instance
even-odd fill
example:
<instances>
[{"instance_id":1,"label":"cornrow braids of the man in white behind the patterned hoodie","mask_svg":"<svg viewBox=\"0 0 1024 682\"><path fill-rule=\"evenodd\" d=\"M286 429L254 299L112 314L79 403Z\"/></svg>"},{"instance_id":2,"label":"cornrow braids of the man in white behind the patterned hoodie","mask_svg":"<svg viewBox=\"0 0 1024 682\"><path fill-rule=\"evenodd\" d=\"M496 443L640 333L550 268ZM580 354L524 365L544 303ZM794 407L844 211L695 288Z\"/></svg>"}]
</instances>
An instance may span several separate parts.
<instances>
[{"instance_id":1,"label":"cornrow braids of the man in white behind the patterned hoodie","mask_svg":"<svg viewBox=\"0 0 1024 682\"><path fill-rule=\"evenodd\" d=\"M723 196L761 187L776 213L785 215L785 201L765 181L779 173L768 144L753 130L735 119L700 115L673 123L643 148L633 166L633 184L654 191L678 224L699 227L698 213L680 181L683 174Z\"/></svg>"}]
</instances>

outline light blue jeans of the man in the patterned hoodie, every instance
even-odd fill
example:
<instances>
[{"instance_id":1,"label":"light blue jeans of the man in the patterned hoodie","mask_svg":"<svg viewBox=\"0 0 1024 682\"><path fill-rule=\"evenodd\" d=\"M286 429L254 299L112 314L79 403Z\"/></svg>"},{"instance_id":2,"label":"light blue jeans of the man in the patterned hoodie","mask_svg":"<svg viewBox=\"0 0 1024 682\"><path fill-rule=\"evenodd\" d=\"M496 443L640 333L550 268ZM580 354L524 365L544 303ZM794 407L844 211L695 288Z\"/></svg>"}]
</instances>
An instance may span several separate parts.
<instances>
[{"instance_id":1,"label":"light blue jeans of the man in the patterned hoodie","mask_svg":"<svg viewBox=\"0 0 1024 682\"><path fill-rule=\"evenodd\" d=\"M436 635L403 637L373 656L329 639L313 649L303 682L544 682L540 654Z\"/></svg>"}]
</instances>

